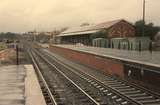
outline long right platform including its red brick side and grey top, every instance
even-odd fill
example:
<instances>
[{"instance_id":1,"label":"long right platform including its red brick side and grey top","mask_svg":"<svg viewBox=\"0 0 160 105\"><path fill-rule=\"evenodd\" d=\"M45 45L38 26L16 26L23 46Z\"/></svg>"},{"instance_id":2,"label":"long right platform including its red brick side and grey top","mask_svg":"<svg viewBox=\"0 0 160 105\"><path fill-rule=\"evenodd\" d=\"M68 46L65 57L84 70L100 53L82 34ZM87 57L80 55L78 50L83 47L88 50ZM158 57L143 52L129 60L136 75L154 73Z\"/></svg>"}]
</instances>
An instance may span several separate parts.
<instances>
[{"instance_id":1,"label":"long right platform including its red brick side and grey top","mask_svg":"<svg viewBox=\"0 0 160 105\"><path fill-rule=\"evenodd\" d=\"M120 78L159 87L160 53L80 45L50 45L50 51Z\"/></svg>"}]
</instances>

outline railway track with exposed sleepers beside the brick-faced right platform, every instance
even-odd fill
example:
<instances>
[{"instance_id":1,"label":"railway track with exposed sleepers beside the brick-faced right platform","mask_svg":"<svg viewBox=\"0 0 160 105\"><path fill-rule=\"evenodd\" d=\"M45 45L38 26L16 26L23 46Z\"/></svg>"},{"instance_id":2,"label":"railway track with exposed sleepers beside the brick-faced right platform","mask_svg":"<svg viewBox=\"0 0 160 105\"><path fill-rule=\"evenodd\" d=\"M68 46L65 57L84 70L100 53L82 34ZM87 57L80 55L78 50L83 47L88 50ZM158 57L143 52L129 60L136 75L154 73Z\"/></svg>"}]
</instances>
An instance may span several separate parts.
<instances>
[{"instance_id":1,"label":"railway track with exposed sleepers beside the brick-faced right platform","mask_svg":"<svg viewBox=\"0 0 160 105\"><path fill-rule=\"evenodd\" d=\"M58 64L60 64L59 67L63 66L65 68L68 68L67 70L70 70L74 72L74 74L79 75L79 77L81 77L83 81L85 80L88 82L88 85L90 85L90 87L92 88L95 87L99 89L99 94L103 93L107 96L107 98L104 98L101 96L102 99L104 98L104 99L112 100L114 102L118 102L116 104L128 104L128 105L131 105L131 104L159 105L160 104L159 96L157 94L150 92L147 89L140 88L135 85L131 85L125 81L118 80L116 78L112 78L109 76L105 77L105 82L101 82L94 76L86 74L85 72L82 72L79 70L75 70L75 68L70 67L69 65L66 65L58 61L56 58L54 58L49 54L46 54L45 57L47 57L47 59L50 59L50 62L58 62ZM66 73L68 73L68 71ZM87 83L82 85L84 85L85 87L88 86ZM89 89L91 89L90 87ZM93 90L95 91L95 89ZM86 91L88 90L86 89Z\"/></svg>"}]
</instances>

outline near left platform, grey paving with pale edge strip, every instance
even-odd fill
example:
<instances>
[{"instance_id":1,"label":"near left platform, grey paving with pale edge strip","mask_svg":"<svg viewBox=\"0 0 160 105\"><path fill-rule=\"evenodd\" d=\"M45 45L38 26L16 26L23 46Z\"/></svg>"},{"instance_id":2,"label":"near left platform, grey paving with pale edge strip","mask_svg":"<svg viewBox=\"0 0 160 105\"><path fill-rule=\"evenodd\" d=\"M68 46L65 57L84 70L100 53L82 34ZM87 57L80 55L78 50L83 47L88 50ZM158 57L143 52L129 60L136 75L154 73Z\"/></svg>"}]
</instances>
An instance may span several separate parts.
<instances>
[{"instance_id":1,"label":"near left platform, grey paving with pale edge strip","mask_svg":"<svg viewBox=\"0 0 160 105\"><path fill-rule=\"evenodd\" d=\"M46 105L32 65L0 67L0 105Z\"/></svg>"}]
</instances>

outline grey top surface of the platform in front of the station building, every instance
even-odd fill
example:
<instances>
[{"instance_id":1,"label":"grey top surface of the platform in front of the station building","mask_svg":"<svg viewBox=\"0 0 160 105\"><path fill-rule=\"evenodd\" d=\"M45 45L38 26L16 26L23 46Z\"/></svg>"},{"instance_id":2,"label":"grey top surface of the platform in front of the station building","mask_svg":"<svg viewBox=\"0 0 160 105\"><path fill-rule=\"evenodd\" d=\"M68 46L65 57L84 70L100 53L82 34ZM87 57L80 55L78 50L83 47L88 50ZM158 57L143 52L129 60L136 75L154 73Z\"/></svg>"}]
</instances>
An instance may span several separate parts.
<instances>
[{"instance_id":1,"label":"grey top surface of the platform in front of the station building","mask_svg":"<svg viewBox=\"0 0 160 105\"><path fill-rule=\"evenodd\" d=\"M149 51L139 52L139 51L128 51L128 50L98 48L98 47L78 46L78 45L52 45L52 46L67 48L75 51L90 53L97 56L108 57L132 63L138 63L153 67L160 67L159 51L150 53Z\"/></svg>"}]
</instances>

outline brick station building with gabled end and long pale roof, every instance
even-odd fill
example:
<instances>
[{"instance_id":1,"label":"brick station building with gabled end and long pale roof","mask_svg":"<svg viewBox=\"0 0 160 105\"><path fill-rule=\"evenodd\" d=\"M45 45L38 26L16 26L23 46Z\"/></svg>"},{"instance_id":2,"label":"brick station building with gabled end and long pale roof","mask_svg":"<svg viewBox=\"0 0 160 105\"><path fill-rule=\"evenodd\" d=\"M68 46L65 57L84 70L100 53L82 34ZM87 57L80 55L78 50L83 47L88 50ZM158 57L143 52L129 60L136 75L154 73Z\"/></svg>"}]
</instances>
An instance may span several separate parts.
<instances>
[{"instance_id":1,"label":"brick station building with gabled end and long pale roof","mask_svg":"<svg viewBox=\"0 0 160 105\"><path fill-rule=\"evenodd\" d=\"M90 35L97 33L99 31L106 30L107 38L124 38L124 37L134 37L135 28L126 20L114 20L99 23L96 25L73 27L62 32L58 35L61 43L64 44L76 44L82 43L84 45L91 45L92 40Z\"/></svg>"}]
</instances>

